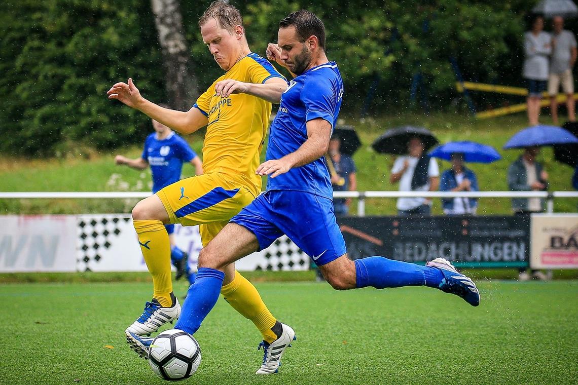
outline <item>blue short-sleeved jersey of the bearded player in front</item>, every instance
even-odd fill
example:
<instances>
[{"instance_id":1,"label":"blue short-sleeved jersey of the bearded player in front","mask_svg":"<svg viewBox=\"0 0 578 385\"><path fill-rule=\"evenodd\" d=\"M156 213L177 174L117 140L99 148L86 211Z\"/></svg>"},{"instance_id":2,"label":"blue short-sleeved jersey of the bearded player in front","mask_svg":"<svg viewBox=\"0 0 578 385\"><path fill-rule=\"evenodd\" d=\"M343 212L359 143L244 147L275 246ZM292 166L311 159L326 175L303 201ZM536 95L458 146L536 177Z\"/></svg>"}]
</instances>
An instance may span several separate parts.
<instances>
[{"instance_id":1,"label":"blue short-sleeved jersey of the bearded player in front","mask_svg":"<svg viewBox=\"0 0 578 385\"><path fill-rule=\"evenodd\" d=\"M266 159L280 159L307 140L307 121L323 118L335 126L343 96L343 81L335 62L313 67L289 82L271 125ZM332 199L325 157L268 178L267 190L296 190Z\"/></svg>"}]
</instances>

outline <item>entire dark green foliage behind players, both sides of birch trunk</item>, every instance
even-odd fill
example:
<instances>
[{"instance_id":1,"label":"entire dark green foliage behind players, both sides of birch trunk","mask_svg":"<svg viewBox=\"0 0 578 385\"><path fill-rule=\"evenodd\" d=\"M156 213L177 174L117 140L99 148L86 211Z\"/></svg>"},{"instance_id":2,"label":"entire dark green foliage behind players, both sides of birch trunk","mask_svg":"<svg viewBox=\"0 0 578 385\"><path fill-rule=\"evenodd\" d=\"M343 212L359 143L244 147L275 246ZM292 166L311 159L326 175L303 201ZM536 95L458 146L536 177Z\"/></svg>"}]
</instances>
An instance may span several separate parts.
<instances>
[{"instance_id":1,"label":"entire dark green foliage behind players, both sides of birch trunk","mask_svg":"<svg viewBox=\"0 0 578 385\"><path fill-rule=\"evenodd\" d=\"M181 1L193 73L205 89L223 72L198 28L210 0ZM370 87L370 114L406 110L417 74L433 107L455 98L449 58L468 80L521 85L521 39L527 1L366 0L362 3L232 1L244 16L252 50L264 55L279 20L312 10L327 28L327 53L338 62L343 110L358 110ZM149 131L142 114L106 99L132 76L143 95L165 99L160 47L150 2L5 0L0 2L0 150L59 155L78 147L115 148Z\"/></svg>"}]
</instances>

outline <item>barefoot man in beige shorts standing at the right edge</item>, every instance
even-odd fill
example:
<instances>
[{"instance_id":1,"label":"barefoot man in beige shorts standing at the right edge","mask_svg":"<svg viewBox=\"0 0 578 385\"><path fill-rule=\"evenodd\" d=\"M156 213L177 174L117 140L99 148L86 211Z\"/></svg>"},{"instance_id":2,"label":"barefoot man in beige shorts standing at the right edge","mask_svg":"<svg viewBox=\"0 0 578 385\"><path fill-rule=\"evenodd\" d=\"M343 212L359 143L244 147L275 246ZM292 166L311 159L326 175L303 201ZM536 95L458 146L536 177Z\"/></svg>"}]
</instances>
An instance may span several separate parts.
<instances>
[{"instance_id":1,"label":"barefoot man in beige shorts standing at the right edge","mask_svg":"<svg viewBox=\"0 0 578 385\"><path fill-rule=\"evenodd\" d=\"M552 20L552 57L550 59L550 76L548 77L548 94L550 95L550 112L555 125L558 125L558 102L556 95L560 83L566 94L568 120L576 121L574 102L574 79L572 68L576 63L576 38L574 33L564 29L564 18L556 16Z\"/></svg>"}]
</instances>

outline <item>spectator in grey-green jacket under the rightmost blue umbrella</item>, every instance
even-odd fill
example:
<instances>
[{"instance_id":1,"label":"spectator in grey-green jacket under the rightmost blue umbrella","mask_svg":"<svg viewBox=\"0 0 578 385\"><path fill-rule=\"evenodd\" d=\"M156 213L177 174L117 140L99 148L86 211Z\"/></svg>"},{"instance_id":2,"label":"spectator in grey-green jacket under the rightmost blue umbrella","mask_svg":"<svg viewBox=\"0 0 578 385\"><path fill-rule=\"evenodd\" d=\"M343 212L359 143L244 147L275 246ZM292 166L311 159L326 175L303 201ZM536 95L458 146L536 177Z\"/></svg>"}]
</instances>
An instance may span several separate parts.
<instances>
[{"instance_id":1,"label":"spectator in grey-green jacket under the rightmost blue umbrella","mask_svg":"<svg viewBox=\"0 0 578 385\"><path fill-rule=\"evenodd\" d=\"M527 147L507 171L507 184L512 191L544 191L548 188L548 174L542 163L536 162L540 147ZM513 198L512 209L514 214L528 215L532 212L544 211L544 200L541 198ZM528 281L530 276L525 268L520 269L518 279ZM532 277L548 279L546 274L532 270Z\"/></svg>"}]
</instances>

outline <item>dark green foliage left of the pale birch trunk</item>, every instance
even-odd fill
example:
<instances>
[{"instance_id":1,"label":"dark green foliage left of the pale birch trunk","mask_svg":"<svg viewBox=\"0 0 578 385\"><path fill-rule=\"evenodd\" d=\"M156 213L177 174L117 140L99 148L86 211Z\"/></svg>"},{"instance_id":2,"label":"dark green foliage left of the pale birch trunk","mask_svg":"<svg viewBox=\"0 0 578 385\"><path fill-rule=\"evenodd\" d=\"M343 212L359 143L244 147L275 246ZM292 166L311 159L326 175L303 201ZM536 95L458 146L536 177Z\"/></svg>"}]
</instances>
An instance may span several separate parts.
<instances>
[{"instance_id":1,"label":"dark green foliage left of the pale birch trunk","mask_svg":"<svg viewBox=\"0 0 578 385\"><path fill-rule=\"evenodd\" d=\"M148 94L162 96L148 3L26 0L0 7L3 151L57 155L144 136L146 117L115 106L105 93L132 76Z\"/></svg>"}]
</instances>

